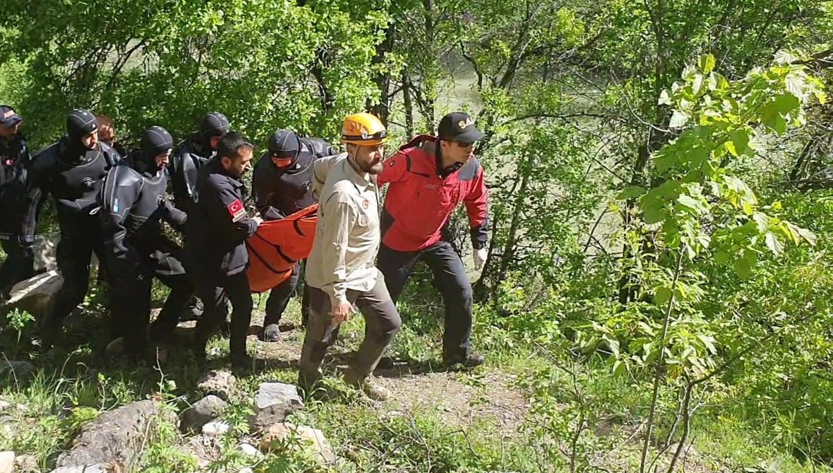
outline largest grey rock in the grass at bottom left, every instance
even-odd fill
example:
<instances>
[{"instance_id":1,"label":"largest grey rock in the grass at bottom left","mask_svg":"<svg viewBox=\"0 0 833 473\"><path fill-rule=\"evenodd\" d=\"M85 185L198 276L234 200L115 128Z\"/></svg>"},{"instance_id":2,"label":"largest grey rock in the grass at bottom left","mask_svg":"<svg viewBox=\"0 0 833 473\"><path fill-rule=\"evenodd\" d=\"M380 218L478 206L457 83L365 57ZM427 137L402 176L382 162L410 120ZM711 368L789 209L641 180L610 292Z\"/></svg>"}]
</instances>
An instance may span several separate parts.
<instances>
[{"instance_id":1,"label":"largest grey rock in the grass at bottom left","mask_svg":"<svg viewBox=\"0 0 833 473\"><path fill-rule=\"evenodd\" d=\"M103 413L81 427L72 449L57 457L57 466L131 463L160 413L157 403L150 400Z\"/></svg>"}]
</instances>

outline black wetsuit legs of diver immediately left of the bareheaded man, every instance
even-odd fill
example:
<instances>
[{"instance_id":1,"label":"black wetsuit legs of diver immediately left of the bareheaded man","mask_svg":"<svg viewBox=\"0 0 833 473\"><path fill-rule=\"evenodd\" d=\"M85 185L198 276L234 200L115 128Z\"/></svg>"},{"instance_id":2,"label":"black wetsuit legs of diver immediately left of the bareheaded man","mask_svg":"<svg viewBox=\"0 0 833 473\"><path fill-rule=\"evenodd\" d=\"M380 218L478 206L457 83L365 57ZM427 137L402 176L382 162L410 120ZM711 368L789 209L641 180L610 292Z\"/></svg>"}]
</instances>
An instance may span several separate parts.
<instances>
[{"instance_id":1,"label":"black wetsuit legs of diver immediately left of the bareheaded man","mask_svg":"<svg viewBox=\"0 0 833 473\"><path fill-rule=\"evenodd\" d=\"M194 286L185 273L171 274L167 267L157 266L155 262L149 260L132 267L111 262L107 266L113 270L110 278L112 337L124 336L125 350L132 356L147 352L148 336L150 341L158 343L171 335L188 300L194 295ZM171 291L148 332L153 277Z\"/></svg>"}]
</instances>

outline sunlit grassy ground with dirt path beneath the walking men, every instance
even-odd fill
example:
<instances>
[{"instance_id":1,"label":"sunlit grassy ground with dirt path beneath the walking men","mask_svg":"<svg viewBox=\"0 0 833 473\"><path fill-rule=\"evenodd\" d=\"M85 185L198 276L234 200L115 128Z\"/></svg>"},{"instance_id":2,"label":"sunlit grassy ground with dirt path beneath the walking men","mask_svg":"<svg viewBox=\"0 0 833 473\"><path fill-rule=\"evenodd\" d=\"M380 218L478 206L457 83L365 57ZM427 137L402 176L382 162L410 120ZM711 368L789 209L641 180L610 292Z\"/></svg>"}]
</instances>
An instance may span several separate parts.
<instances>
[{"instance_id":1,"label":"sunlit grassy ground with dirt path beneath the walking men","mask_svg":"<svg viewBox=\"0 0 833 473\"><path fill-rule=\"evenodd\" d=\"M570 361L563 353L530 346L482 310L478 311L475 345L488 353L487 365L471 372L431 372L441 349L441 318L435 316L441 314L441 301L430 286L422 282L407 287L400 304L405 324L391 348L393 356L428 372L386 378L387 386L394 388L392 399L373 404L353 395L329 371L328 382L346 395L333 401L307 399L305 408L290 417L289 421L313 426L327 436L342 458L337 471L570 471L571 457L576 471L634 471L637 429L648 402L648 393L639 383L611 376L604 361ZM27 406L27 411L6 414L12 416L6 425L13 432L0 436L0 451L35 456L42 471L49 471L78 429L103 411L154 398L164 401L167 410L178 412L201 396L195 390L201 372L185 352L172 351L172 360L162 369L105 362L101 353L107 341L98 334L106 323L95 315L100 314L97 298L102 296L93 293L87 301L92 315L69 327L67 339L77 346L32 353L38 371L27 383L0 379L2 397ZM257 311L262 311L265 300L265 296L256 297ZM287 312L287 321L300 322L297 298ZM355 349L363 334L362 317L352 316L341 334L337 350ZM28 335L31 327L24 329L19 341L12 331L0 334L4 354L18 359L26 356ZM284 344L297 347L303 333L290 331L284 336ZM224 364L227 346L221 338L212 340L209 347L217 358L216 366ZM260 342L250 346L250 351L264 356L269 349ZM556 361L563 365L555 366ZM237 471L245 466L270 472L322 469L301 448L279 449L258 460L242 454L238 447L242 441L257 444L247 418L259 383L293 383L296 376L291 362L270 363L251 376L238 376L237 395L222 414L232 425L232 433L212 444L215 456L207 471ZM505 384L497 385L496 380ZM517 406L521 417L509 431L496 420L501 411L493 409L507 391L516 396L511 399L521 400L511 401L521 404ZM448 406L454 407L449 411ZM471 418L455 416L454 410L466 409ZM571 441L581 419L585 423L573 448ZM718 411L704 411L696 419L693 447L687 461L681 462L685 471L831 471L810 462L802 464L768 441L766 433L753 428L749 420L730 421ZM658 437L667 431L667 425L658 426ZM133 471L196 471L197 460L182 450L186 442L175 425L162 422ZM666 456L657 461L663 464L667 464Z\"/></svg>"}]
</instances>

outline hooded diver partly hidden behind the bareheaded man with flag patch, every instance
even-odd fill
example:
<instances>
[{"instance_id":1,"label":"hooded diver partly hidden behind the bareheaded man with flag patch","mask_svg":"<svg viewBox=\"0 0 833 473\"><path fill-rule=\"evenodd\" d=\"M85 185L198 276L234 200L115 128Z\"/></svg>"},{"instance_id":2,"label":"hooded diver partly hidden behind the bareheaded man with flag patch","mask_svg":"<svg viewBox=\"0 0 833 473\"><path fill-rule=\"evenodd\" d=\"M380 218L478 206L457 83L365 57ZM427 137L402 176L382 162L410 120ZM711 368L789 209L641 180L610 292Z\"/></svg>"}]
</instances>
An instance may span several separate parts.
<instances>
[{"instance_id":1,"label":"hooded diver partly hidden behind the bareheaded man with flag patch","mask_svg":"<svg viewBox=\"0 0 833 473\"><path fill-rule=\"evenodd\" d=\"M217 154L217 143L228 132L228 119L220 112L202 117L199 132L179 143L168 165L171 177L173 203L182 212L189 213L194 205L199 170ZM194 319L200 314L197 298L188 301L186 316ZM225 331L225 329L223 330Z\"/></svg>"}]
</instances>

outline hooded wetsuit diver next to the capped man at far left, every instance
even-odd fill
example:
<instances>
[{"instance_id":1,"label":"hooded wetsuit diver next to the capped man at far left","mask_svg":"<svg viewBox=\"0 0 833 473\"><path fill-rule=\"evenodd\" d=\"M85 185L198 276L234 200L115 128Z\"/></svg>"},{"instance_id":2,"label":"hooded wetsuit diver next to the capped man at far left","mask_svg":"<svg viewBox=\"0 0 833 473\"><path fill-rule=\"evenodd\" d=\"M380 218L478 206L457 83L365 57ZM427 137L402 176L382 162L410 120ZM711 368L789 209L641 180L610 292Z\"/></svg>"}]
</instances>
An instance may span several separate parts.
<instances>
[{"instance_id":1,"label":"hooded wetsuit diver next to the capped man at far left","mask_svg":"<svg viewBox=\"0 0 833 473\"><path fill-rule=\"evenodd\" d=\"M42 204L50 194L57 210L61 240L57 267L63 286L42 319L41 335L47 345L61 331L63 320L87 294L90 258L96 252L105 264L96 196L102 179L118 162L118 154L98 142L96 117L76 109L67 116L67 135L32 160L27 174L27 226L35 227Z\"/></svg>"}]
</instances>

